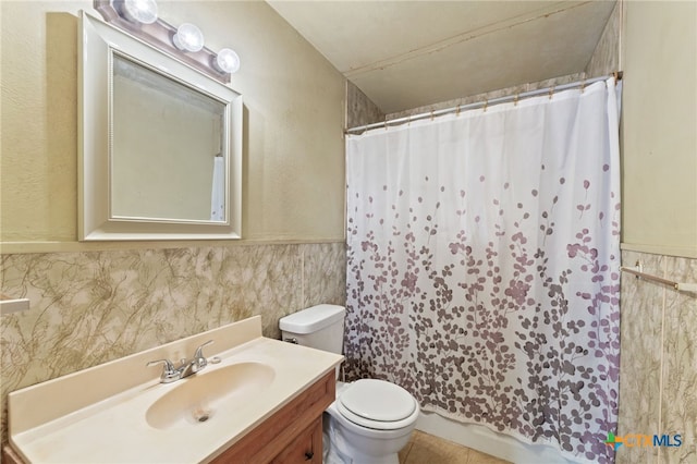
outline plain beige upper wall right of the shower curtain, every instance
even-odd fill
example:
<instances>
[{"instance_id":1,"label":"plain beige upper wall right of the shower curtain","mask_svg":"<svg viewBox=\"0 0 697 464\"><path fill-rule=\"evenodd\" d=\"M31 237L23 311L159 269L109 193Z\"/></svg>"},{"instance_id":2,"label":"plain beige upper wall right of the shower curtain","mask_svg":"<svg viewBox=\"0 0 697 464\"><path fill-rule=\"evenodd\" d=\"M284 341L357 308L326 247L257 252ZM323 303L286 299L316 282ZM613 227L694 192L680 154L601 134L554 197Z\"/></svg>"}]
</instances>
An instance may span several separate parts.
<instances>
[{"instance_id":1,"label":"plain beige upper wall right of the shower curtain","mask_svg":"<svg viewBox=\"0 0 697 464\"><path fill-rule=\"evenodd\" d=\"M697 3L625 3L623 237L697 257Z\"/></svg>"}]
</instances>

